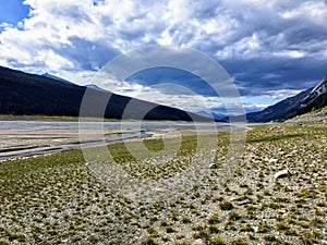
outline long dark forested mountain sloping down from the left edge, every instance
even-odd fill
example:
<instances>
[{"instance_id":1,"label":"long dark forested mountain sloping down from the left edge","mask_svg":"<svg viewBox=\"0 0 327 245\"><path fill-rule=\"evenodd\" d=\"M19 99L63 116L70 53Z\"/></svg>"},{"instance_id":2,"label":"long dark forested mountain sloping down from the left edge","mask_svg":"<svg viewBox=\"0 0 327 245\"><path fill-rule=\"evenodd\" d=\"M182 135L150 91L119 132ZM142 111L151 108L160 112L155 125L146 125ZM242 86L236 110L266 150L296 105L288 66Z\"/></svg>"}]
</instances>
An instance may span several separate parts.
<instances>
[{"instance_id":1,"label":"long dark forested mountain sloping down from the left edge","mask_svg":"<svg viewBox=\"0 0 327 245\"><path fill-rule=\"evenodd\" d=\"M207 121L207 118L110 91L86 88L73 83L58 83L49 75L28 74L0 66L0 114L41 114L78 117L83 96L87 90L93 107L87 117L121 119L126 106L132 106L124 119ZM105 115L97 105L110 95ZM105 100L106 101L106 100ZM133 103L131 103L131 101ZM150 109L154 108L154 109ZM149 110L149 111L146 111ZM192 119L191 119L192 118Z\"/></svg>"}]
</instances>

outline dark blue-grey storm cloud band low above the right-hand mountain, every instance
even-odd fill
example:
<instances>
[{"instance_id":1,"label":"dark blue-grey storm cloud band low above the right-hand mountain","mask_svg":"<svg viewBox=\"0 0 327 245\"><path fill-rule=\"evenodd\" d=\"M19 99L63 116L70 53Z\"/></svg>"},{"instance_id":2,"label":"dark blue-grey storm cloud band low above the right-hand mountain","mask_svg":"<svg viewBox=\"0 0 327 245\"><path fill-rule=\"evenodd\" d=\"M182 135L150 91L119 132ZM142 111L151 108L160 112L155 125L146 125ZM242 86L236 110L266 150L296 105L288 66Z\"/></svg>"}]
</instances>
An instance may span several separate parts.
<instances>
[{"instance_id":1,"label":"dark blue-grey storm cloud band low above the right-hand mountain","mask_svg":"<svg viewBox=\"0 0 327 245\"><path fill-rule=\"evenodd\" d=\"M315 58L230 59L220 63L233 74L243 96L264 95L269 90L307 89L327 75L327 60Z\"/></svg>"}]
</instances>

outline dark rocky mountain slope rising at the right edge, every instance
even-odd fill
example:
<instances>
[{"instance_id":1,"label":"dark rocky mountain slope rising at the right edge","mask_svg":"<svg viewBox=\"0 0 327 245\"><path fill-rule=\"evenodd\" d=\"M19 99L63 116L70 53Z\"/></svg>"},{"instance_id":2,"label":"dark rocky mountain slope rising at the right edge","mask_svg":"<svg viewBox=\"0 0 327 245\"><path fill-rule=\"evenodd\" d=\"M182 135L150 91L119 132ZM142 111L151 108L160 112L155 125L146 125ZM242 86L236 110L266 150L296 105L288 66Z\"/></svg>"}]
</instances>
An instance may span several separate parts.
<instances>
[{"instance_id":1,"label":"dark rocky mountain slope rising at the right edge","mask_svg":"<svg viewBox=\"0 0 327 245\"><path fill-rule=\"evenodd\" d=\"M315 87L281 100L262 111L247 113L246 119L249 122L284 121L325 106L327 106L326 77Z\"/></svg>"}]
</instances>

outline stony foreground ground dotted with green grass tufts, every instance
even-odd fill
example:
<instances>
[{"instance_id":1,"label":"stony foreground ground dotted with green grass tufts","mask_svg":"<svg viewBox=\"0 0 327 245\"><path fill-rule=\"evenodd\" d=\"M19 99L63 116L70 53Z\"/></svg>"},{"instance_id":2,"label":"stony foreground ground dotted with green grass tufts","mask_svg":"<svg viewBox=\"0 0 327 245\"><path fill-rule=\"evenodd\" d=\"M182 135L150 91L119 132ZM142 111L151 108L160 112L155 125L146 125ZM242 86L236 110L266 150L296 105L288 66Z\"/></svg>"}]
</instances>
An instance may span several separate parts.
<instances>
[{"instance_id":1,"label":"stony foreground ground dotted with green grass tufts","mask_svg":"<svg viewBox=\"0 0 327 245\"><path fill-rule=\"evenodd\" d=\"M0 243L326 244L325 124L253 126L242 155L187 131L111 144L116 166L97 147L1 161Z\"/></svg>"}]
</instances>

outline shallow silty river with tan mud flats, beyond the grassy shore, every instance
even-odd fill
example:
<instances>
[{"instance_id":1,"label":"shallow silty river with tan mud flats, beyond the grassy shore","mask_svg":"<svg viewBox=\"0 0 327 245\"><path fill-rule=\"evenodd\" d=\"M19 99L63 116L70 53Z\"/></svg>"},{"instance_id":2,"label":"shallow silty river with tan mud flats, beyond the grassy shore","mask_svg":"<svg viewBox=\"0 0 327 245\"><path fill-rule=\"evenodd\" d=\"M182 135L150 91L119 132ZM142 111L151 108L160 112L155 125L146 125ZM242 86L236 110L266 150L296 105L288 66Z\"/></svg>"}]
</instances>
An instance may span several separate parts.
<instances>
[{"instance_id":1,"label":"shallow silty river with tan mud flats, beyond the grassy shore","mask_svg":"<svg viewBox=\"0 0 327 245\"><path fill-rule=\"evenodd\" d=\"M49 122L0 121L0 160L45 155L180 132L229 132L225 123L171 121Z\"/></svg>"}]
</instances>

